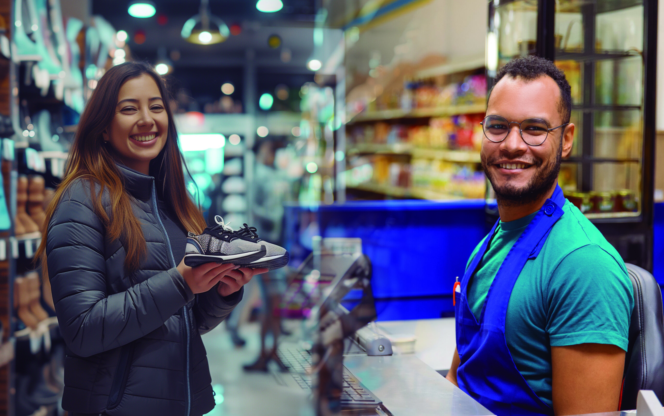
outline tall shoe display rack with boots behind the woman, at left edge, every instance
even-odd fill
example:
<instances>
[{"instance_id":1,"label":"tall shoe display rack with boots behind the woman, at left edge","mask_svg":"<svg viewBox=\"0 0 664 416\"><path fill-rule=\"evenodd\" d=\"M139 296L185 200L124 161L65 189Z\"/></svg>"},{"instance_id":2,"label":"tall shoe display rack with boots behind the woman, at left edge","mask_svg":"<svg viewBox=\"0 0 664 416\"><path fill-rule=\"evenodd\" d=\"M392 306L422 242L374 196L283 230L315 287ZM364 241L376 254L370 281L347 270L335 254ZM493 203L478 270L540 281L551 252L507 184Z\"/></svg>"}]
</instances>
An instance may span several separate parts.
<instances>
[{"instance_id":1,"label":"tall shoe display rack with boots behind the woman, at left edge","mask_svg":"<svg viewBox=\"0 0 664 416\"><path fill-rule=\"evenodd\" d=\"M65 21L60 0L0 0L0 415L62 415L65 346L35 253L84 103L129 52L115 33Z\"/></svg>"}]
</instances>

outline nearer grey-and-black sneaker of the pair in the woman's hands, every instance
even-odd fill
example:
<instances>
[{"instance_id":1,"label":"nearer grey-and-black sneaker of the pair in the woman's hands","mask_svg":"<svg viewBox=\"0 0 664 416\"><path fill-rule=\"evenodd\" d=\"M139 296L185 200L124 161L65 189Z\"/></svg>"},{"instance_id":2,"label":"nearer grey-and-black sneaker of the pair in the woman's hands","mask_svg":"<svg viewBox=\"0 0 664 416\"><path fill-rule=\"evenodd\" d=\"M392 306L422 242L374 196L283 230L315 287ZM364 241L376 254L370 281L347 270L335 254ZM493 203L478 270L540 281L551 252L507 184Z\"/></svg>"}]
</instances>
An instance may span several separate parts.
<instances>
[{"instance_id":1,"label":"nearer grey-and-black sneaker of the pair in the woman's hands","mask_svg":"<svg viewBox=\"0 0 664 416\"><path fill-rule=\"evenodd\" d=\"M207 227L202 234L189 233L185 251L187 266L209 262L248 266L266 255L265 246L240 239L219 215L214 217L214 221L217 225Z\"/></svg>"}]
</instances>

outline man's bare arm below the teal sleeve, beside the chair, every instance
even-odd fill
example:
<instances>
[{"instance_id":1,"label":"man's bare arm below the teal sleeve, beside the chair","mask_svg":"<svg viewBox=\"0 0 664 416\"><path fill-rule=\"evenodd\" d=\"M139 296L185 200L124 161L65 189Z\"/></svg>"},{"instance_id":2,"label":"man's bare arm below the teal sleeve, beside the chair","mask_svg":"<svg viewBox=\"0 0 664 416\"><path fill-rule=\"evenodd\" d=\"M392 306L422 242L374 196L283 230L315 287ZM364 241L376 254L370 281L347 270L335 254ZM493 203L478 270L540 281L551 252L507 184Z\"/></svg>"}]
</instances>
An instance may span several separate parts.
<instances>
[{"instance_id":1,"label":"man's bare arm below the teal sleeve, beside the chair","mask_svg":"<svg viewBox=\"0 0 664 416\"><path fill-rule=\"evenodd\" d=\"M618 410L625 365L622 348L611 344L551 347L551 365L556 416Z\"/></svg>"}]
</instances>

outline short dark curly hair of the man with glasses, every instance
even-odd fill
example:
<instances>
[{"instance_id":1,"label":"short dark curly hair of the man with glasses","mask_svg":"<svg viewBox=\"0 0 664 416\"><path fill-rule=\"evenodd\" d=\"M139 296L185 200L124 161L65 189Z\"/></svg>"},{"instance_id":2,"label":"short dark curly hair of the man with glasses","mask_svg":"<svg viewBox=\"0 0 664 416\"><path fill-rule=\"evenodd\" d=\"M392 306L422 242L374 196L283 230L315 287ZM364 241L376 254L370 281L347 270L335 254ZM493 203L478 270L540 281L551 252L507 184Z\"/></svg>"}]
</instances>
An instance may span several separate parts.
<instances>
[{"instance_id":1,"label":"short dark curly hair of the man with glasses","mask_svg":"<svg viewBox=\"0 0 664 416\"><path fill-rule=\"evenodd\" d=\"M531 81L543 75L553 78L553 80L556 81L556 84L558 84L558 88L560 88L558 112L560 112L560 117L562 118L563 123L570 122L570 114L572 113L572 90L570 88L570 83L567 82L567 78L565 78L565 73L558 69L553 62L541 58L540 56L533 55L510 60L505 66L500 68L496 74L495 80L493 81L493 87L491 87L492 91L496 84L498 84L498 81L505 75L509 75L512 78L521 78L525 81ZM489 98L491 98L491 92L489 92Z\"/></svg>"}]
</instances>

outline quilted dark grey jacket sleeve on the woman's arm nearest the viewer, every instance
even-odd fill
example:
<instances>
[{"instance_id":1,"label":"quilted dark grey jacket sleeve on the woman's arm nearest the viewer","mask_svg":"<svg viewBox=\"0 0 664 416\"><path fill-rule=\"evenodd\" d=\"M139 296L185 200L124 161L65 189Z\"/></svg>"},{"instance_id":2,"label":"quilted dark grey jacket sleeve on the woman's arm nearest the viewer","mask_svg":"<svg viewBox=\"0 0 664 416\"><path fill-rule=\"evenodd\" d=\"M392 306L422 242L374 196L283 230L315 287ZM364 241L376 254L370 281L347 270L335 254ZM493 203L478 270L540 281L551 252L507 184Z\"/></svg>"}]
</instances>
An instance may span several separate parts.
<instances>
[{"instance_id":1,"label":"quilted dark grey jacket sleeve on the woman's arm nearest the viewer","mask_svg":"<svg viewBox=\"0 0 664 416\"><path fill-rule=\"evenodd\" d=\"M78 189L63 195L49 221L46 257L64 341L74 354L88 357L156 330L194 296L183 291L176 268L108 294L104 226L85 186L72 188Z\"/></svg>"}]
</instances>

